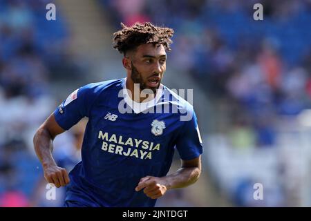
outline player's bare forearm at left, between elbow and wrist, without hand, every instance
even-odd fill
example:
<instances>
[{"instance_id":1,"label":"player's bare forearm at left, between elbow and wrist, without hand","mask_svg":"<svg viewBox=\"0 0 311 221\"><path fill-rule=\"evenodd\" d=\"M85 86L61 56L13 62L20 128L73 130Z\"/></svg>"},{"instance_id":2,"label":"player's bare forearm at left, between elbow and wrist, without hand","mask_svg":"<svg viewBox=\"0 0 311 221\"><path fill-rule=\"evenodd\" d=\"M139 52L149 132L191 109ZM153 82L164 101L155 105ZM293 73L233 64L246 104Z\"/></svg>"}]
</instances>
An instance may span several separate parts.
<instances>
[{"instance_id":1,"label":"player's bare forearm at left, between elbow and wrist, without hand","mask_svg":"<svg viewBox=\"0 0 311 221\"><path fill-rule=\"evenodd\" d=\"M33 143L35 146L35 152L42 166L46 167L50 165L56 165L52 155L53 137L51 137L48 130L39 128L33 138Z\"/></svg>"}]
</instances>

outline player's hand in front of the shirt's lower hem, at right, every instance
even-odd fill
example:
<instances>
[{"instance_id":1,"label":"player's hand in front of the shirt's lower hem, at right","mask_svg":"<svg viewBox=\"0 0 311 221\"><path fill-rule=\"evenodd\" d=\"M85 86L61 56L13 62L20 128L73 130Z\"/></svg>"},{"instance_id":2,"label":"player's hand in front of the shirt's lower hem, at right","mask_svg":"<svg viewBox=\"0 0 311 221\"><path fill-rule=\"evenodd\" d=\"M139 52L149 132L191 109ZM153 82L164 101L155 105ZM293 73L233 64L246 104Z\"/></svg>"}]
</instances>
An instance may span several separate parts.
<instances>
[{"instance_id":1,"label":"player's hand in front of the shirt's lower hem, at right","mask_svg":"<svg viewBox=\"0 0 311 221\"><path fill-rule=\"evenodd\" d=\"M140 179L135 191L144 189L144 193L151 199L158 199L167 191L165 180L160 177L143 177Z\"/></svg>"}]
</instances>

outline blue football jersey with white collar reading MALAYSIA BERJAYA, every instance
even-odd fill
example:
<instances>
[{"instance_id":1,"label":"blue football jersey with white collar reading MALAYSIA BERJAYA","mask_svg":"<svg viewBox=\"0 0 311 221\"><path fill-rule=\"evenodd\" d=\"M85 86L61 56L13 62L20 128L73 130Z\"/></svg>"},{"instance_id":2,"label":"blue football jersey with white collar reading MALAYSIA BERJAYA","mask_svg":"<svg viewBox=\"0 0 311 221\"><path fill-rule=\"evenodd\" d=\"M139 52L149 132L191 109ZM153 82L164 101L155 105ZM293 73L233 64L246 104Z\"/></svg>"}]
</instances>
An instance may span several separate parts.
<instances>
[{"instance_id":1,"label":"blue football jersey with white collar reading MALAYSIA BERJAYA","mask_svg":"<svg viewBox=\"0 0 311 221\"><path fill-rule=\"evenodd\" d=\"M69 173L67 202L155 206L156 200L135 191L140 179L167 175L175 148L182 160L202 153L193 106L162 84L151 101L133 102L125 82L82 86L54 112L64 130L88 117L82 161Z\"/></svg>"}]
</instances>

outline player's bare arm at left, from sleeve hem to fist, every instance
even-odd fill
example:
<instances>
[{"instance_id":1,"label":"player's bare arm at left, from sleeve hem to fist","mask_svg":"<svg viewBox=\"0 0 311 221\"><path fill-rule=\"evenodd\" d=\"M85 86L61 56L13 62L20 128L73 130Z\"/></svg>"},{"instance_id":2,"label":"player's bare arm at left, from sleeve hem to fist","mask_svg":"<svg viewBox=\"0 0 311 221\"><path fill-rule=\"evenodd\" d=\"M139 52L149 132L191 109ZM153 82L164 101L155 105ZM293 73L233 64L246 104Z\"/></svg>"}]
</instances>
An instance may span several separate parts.
<instances>
[{"instance_id":1,"label":"player's bare arm at left, from sleeve hem to fist","mask_svg":"<svg viewBox=\"0 0 311 221\"><path fill-rule=\"evenodd\" d=\"M48 183L58 188L70 182L66 169L57 166L52 152L54 138L65 130L57 124L54 113L38 128L33 143L35 152L44 169L44 177Z\"/></svg>"}]
</instances>

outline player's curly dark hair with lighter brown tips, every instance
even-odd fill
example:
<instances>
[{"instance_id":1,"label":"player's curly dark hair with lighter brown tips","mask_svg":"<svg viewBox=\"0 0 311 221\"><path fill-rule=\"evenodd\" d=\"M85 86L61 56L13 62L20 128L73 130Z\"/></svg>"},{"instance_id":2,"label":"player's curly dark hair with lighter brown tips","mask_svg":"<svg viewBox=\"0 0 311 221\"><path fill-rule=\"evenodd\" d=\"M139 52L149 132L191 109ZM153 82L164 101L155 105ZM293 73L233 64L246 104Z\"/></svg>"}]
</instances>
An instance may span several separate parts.
<instances>
[{"instance_id":1,"label":"player's curly dark hair with lighter brown tips","mask_svg":"<svg viewBox=\"0 0 311 221\"><path fill-rule=\"evenodd\" d=\"M129 50L134 50L141 44L163 45L165 50L171 50L169 47L173 43L174 30L171 28L161 28L153 26L146 22L134 23L133 26L125 26L121 23L122 30L113 33L113 48L117 49L124 56Z\"/></svg>"}]
</instances>

